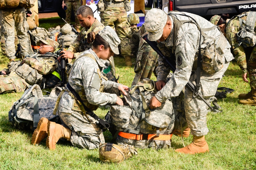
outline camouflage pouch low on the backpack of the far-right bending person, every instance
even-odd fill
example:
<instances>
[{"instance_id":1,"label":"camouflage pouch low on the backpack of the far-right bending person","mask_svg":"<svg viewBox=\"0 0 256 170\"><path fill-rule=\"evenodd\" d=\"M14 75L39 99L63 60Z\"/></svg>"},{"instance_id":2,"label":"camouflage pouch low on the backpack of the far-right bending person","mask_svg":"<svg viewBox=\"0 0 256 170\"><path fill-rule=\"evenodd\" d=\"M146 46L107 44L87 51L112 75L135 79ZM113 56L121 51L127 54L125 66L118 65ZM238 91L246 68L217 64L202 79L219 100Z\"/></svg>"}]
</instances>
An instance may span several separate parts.
<instances>
[{"instance_id":1,"label":"camouflage pouch low on the backpack of the far-right bending person","mask_svg":"<svg viewBox=\"0 0 256 170\"><path fill-rule=\"evenodd\" d=\"M237 42L239 46L242 44L244 47L253 47L256 43L256 35L248 31L240 30L237 33Z\"/></svg>"}]
</instances>

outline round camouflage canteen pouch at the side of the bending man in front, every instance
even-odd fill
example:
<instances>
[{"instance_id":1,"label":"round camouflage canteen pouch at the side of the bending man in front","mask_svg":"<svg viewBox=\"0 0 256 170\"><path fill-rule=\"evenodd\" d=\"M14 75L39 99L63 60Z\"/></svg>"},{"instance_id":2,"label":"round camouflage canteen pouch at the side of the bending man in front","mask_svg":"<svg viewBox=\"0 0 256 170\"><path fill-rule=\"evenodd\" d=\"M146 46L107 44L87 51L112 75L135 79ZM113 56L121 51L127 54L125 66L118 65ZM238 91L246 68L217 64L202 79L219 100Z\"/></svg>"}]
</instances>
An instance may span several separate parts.
<instances>
[{"instance_id":1,"label":"round camouflage canteen pouch at the side of the bending man in front","mask_svg":"<svg viewBox=\"0 0 256 170\"><path fill-rule=\"evenodd\" d=\"M202 58L202 70L208 74L214 74L222 68L222 56L214 48L207 49Z\"/></svg>"}]
</instances>

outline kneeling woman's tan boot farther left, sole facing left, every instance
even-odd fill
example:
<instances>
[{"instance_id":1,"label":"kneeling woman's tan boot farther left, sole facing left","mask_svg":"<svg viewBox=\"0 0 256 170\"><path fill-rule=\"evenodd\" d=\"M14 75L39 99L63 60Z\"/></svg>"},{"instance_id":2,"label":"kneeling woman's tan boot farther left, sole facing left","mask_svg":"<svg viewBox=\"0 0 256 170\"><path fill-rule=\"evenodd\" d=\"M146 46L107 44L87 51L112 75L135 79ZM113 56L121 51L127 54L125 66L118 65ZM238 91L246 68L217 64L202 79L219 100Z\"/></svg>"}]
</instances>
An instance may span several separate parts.
<instances>
[{"instance_id":1,"label":"kneeling woman's tan boot farther left, sole facing left","mask_svg":"<svg viewBox=\"0 0 256 170\"><path fill-rule=\"evenodd\" d=\"M42 117L39 120L39 122L37 124L37 128L32 135L32 139L31 139L32 145L36 145L36 144L40 143L44 138L47 137L48 122L49 122L48 119L46 119L45 117Z\"/></svg>"}]
</instances>

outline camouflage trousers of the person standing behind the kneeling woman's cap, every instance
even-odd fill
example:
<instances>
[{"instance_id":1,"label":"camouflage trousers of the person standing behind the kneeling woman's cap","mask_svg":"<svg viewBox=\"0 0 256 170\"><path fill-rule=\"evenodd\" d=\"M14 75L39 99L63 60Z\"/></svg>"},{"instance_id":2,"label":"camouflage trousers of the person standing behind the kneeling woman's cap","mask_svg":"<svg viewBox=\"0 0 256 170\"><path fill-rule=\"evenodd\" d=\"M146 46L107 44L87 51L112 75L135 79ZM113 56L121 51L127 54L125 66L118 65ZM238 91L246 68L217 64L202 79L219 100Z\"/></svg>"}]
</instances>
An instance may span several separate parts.
<instances>
[{"instance_id":1,"label":"camouflage trousers of the person standing behind the kneeling woman's cap","mask_svg":"<svg viewBox=\"0 0 256 170\"><path fill-rule=\"evenodd\" d=\"M102 24L109 25L111 28L115 28L116 34L121 40L121 54L123 57L131 56L131 45L130 38L127 37L128 32L127 29L129 25L127 24L127 17L123 16L111 16L111 17L101 17L100 22Z\"/></svg>"}]
</instances>

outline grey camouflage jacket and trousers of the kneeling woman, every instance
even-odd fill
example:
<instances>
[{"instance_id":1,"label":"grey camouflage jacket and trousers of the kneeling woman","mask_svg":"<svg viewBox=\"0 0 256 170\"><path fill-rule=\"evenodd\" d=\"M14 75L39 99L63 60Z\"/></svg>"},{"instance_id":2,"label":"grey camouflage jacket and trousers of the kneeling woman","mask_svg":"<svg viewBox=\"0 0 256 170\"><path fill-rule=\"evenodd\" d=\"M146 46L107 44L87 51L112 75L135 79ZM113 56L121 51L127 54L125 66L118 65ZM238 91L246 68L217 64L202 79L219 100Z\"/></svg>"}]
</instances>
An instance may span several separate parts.
<instances>
[{"instance_id":1,"label":"grey camouflage jacket and trousers of the kneeling woman","mask_svg":"<svg viewBox=\"0 0 256 170\"><path fill-rule=\"evenodd\" d=\"M89 57L78 58L74 62L68 82L70 86L76 90L85 103L92 105L104 106L107 103L115 103L117 101L119 83L105 81L99 79L99 74L102 74L104 63L97 57L92 49L84 51L83 54L92 54L97 63ZM111 90L116 94L101 93L100 81L106 90ZM74 107L74 99L67 91L61 96L58 114L64 124L71 130L72 135L70 141L72 145L88 149L99 148L99 145L104 143L104 136L96 120L88 115L90 122L83 112ZM87 105L88 106L88 105ZM89 106L88 106L89 107ZM90 107L89 107L90 108ZM96 107L97 109L97 107ZM95 110L95 109L92 109Z\"/></svg>"}]
</instances>

